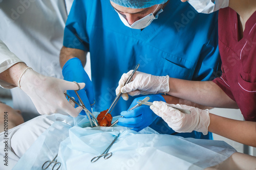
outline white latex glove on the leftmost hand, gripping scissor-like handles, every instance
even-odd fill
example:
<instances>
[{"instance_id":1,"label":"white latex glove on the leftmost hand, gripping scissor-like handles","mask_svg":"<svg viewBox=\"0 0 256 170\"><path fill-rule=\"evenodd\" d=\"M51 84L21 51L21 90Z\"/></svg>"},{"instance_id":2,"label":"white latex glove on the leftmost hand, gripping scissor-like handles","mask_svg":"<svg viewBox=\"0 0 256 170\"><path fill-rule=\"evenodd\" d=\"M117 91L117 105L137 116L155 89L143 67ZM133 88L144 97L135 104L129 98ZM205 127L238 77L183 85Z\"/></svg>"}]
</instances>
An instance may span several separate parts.
<instances>
[{"instance_id":1,"label":"white latex glove on the leftmost hand, gripping scissor-like handles","mask_svg":"<svg viewBox=\"0 0 256 170\"><path fill-rule=\"evenodd\" d=\"M78 83L84 88L84 83ZM76 117L82 107L74 108L63 92L78 90L74 82L38 74L32 68L27 68L19 78L19 88L29 95L39 114L60 113Z\"/></svg>"}]
</instances>

